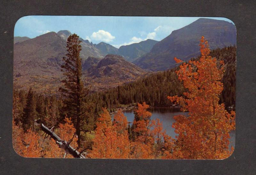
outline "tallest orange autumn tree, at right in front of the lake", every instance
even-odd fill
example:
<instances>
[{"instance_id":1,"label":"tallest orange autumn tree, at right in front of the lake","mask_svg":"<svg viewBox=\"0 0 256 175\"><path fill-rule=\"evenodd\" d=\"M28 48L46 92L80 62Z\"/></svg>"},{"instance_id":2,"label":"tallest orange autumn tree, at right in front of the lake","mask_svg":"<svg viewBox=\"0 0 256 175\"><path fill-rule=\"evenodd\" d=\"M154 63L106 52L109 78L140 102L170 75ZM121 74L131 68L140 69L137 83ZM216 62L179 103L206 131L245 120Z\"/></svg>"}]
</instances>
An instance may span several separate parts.
<instances>
[{"instance_id":1,"label":"tallest orange autumn tree, at right in front of the lake","mask_svg":"<svg viewBox=\"0 0 256 175\"><path fill-rule=\"evenodd\" d=\"M223 90L221 79L224 63L209 56L208 42L200 40L199 61L182 63L176 72L188 92L183 97L168 96L171 102L189 111L188 117L175 116L172 127L179 134L173 155L185 159L223 159L231 155L234 148L228 149L229 133L235 129L235 112L229 114L224 104L219 104ZM177 63L182 62L174 58Z\"/></svg>"}]
</instances>

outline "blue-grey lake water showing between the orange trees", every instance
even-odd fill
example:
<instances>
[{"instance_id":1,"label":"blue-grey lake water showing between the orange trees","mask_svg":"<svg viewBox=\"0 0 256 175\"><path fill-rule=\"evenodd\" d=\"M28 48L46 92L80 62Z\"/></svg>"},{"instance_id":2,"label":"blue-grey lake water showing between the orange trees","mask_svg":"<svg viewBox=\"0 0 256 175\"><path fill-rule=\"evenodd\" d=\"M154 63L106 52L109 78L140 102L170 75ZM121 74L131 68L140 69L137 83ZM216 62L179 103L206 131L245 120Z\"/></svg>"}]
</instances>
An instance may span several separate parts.
<instances>
[{"instance_id":1,"label":"blue-grey lake water showing between the orange trees","mask_svg":"<svg viewBox=\"0 0 256 175\"><path fill-rule=\"evenodd\" d=\"M186 115L188 116L188 112L181 112L180 109L173 109L167 107L152 107L148 109L149 112L152 113L151 120L159 118L161 122L163 122L163 129L166 130L166 133L175 138L175 135L178 135L174 132L174 128L172 128L172 123L175 122L174 116L176 115ZM127 117L128 122L133 122L134 114L133 109L123 110L124 115ZM113 116L113 115L112 115ZM235 131L230 133L230 144L229 148L233 146L235 148Z\"/></svg>"}]
</instances>

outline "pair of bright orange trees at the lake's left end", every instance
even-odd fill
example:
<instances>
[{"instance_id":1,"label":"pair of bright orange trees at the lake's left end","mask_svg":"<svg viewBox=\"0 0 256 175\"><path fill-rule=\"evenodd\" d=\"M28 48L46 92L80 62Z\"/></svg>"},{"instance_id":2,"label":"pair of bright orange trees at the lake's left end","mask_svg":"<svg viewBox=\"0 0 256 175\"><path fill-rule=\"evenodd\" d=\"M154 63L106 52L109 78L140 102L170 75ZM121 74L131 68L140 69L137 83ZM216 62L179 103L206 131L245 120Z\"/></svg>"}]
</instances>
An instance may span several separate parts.
<instances>
[{"instance_id":1,"label":"pair of bright orange trees at the lake's left end","mask_svg":"<svg viewBox=\"0 0 256 175\"><path fill-rule=\"evenodd\" d=\"M96 123L97 128L93 139L92 151L88 154L90 158L129 158L130 143L126 130L127 119L119 111L114 116L112 124L111 117L106 108Z\"/></svg>"}]
</instances>

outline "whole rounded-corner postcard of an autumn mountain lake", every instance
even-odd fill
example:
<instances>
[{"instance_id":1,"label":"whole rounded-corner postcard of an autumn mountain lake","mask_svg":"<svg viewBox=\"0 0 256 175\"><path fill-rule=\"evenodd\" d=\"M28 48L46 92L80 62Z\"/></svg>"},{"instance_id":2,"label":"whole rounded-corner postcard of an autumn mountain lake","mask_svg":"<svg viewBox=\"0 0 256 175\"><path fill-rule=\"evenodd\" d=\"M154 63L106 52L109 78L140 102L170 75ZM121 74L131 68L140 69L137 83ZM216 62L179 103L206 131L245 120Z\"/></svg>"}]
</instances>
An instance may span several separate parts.
<instances>
[{"instance_id":1,"label":"whole rounded-corner postcard of an autumn mountain lake","mask_svg":"<svg viewBox=\"0 0 256 175\"><path fill-rule=\"evenodd\" d=\"M14 28L23 157L225 159L235 148L227 18L25 16Z\"/></svg>"}]
</instances>

